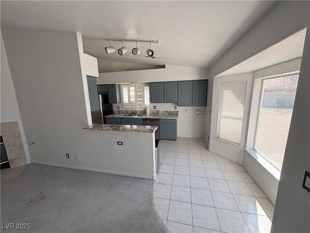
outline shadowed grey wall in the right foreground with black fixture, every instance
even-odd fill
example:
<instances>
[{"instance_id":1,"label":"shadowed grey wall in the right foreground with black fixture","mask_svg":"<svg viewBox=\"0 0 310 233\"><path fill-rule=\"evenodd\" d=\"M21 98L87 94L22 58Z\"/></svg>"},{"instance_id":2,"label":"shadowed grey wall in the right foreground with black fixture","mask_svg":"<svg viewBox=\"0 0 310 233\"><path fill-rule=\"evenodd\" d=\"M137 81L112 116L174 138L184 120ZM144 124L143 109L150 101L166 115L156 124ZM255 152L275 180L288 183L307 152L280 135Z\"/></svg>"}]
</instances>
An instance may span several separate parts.
<instances>
[{"instance_id":1,"label":"shadowed grey wall in the right foreground with black fixture","mask_svg":"<svg viewBox=\"0 0 310 233\"><path fill-rule=\"evenodd\" d=\"M271 232L310 232L310 193L302 187L310 171L310 2L308 27L291 127L279 181Z\"/></svg>"}]
</instances>

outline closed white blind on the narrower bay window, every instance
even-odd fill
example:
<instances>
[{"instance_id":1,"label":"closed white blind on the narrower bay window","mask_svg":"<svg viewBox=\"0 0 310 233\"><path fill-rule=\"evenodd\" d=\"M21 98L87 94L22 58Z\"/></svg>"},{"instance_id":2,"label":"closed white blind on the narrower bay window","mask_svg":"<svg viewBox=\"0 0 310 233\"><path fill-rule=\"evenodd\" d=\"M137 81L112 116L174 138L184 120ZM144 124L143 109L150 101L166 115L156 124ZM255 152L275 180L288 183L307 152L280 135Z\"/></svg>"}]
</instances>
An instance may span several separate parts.
<instances>
[{"instance_id":1,"label":"closed white blind on the narrower bay window","mask_svg":"<svg viewBox=\"0 0 310 233\"><path fill-rule=\"evenodd\" d=\"M217 138L240 144L247 81L220 85Z\"/></svg>"}]
</instances>

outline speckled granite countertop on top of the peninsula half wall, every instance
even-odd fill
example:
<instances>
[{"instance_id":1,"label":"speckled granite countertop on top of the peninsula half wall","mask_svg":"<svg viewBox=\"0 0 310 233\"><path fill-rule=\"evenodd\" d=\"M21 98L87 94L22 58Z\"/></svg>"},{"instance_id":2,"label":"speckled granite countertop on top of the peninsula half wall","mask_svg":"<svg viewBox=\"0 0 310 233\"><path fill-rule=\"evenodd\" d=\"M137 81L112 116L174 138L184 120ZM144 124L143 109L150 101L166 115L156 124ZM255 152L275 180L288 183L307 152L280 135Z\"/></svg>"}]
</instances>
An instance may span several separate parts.
<instances>
[{"instance_id":1,"label":"speckled granite countertop on top of the peninsula half wall","mask_svg":"<svg viewBox=\"0 0 310 233\"><path fill-rule=\"evenodd\" d=\"M84 130L154 133L155 130L157 129L157 126L92 124L92 125L84 127L83 129Z\"/></svg>"}]
</instances>

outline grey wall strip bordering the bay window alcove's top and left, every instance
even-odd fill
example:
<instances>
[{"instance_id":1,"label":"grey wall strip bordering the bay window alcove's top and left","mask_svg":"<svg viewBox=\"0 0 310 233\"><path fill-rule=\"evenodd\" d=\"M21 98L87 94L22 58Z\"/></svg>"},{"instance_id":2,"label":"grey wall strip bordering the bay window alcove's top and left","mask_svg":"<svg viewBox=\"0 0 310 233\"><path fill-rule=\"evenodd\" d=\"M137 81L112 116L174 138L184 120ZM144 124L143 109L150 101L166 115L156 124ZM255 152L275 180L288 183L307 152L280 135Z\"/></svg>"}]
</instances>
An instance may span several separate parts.
<instances>
[{"instance_id":1,"label":"grey wall strip bordering the bay window alcove's top and left","mask_svg":"<svg viewBox=\"0 0 310 233\"><path fill-rule=\"evenodd\" d=\"M308 1L280 1L209 68L207 109L209 110L212 104L213 80L215 76L305 28L308 20ZM212 109L212 113L213 111L214 109ZM209 121L210 118L211 120ZM216 118L217 116L213 114L211 117L206 117L205 140L210 136L211 125L216 124ZM211 137L210 140L216 139Z\"/></svg>"}]
</instances>

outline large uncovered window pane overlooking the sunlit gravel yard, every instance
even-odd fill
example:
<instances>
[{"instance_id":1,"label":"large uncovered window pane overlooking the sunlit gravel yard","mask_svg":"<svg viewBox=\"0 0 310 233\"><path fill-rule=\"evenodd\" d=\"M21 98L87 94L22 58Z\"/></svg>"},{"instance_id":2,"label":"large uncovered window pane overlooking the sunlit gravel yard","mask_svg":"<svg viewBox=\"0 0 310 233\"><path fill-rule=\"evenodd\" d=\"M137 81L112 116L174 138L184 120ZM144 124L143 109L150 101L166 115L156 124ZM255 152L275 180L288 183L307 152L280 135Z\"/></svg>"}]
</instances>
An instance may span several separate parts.
<instances>
[{"instance_id":1,"label":"large uncovered window pane overlooking the sunlit gravel yard","mask_svg":"<svg viewBox=\"0 0 310 233\"><path fill-rule=\"evenodd\" d=\"M254 149L279 170L290 129L298 74L263 80Z\"/></svg>"}]
</instances>

